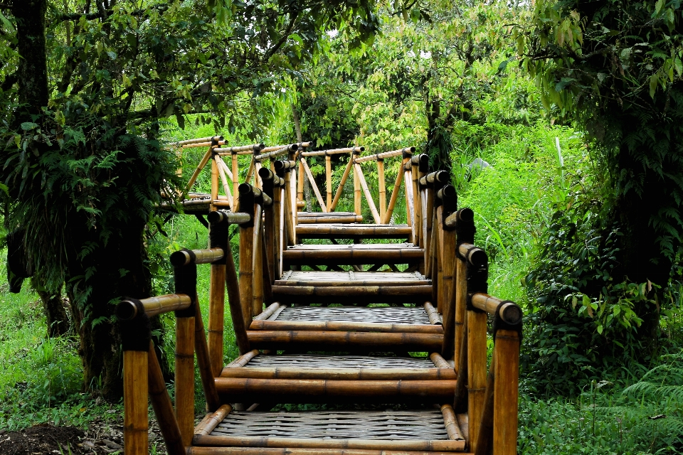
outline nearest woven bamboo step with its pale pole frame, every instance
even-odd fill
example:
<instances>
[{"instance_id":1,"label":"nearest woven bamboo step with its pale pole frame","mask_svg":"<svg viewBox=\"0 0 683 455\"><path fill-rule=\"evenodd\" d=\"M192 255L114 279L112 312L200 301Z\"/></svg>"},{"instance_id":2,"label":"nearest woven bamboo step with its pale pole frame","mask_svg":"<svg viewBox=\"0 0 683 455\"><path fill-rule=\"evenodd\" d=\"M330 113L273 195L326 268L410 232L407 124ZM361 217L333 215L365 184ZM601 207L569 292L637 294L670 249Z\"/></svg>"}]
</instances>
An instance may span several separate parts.
<instances>
[{"instance_id":1,"label":"nearest woven bamboo step with its pale pole frame","mask_svg":"<svg viewBox=\"0 0 683 455\"><path fill-rule=\"evenodd\" d=\"M460 425L467 427L466 416L456 416L450 405L433 410L297 412L232 411L227 405L198 425L194 447L187 453L448 454L465 450L467 435Z\"/></svg>"}]
</instances>

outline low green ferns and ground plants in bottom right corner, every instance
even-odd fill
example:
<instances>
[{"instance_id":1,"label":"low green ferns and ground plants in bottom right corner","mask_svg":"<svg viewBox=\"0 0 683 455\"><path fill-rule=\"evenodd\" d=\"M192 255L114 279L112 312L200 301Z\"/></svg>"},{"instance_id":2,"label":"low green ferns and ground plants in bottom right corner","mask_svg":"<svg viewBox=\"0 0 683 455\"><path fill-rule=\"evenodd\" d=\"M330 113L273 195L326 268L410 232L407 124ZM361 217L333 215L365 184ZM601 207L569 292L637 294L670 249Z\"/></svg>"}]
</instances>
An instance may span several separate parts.
<instances>
[{"instance_id":1,"label":"low green ferns and ground plants in bottom right corner","mask_svg":"<svg viewBox=\"0 0 683 455\"><path fill-rule=\"evenodd\" d=\"M522 397L519 452L524 454L677 454L683 450L683 356L622 390L591 382L573 400Z\"/></svg>"}]
</instances>

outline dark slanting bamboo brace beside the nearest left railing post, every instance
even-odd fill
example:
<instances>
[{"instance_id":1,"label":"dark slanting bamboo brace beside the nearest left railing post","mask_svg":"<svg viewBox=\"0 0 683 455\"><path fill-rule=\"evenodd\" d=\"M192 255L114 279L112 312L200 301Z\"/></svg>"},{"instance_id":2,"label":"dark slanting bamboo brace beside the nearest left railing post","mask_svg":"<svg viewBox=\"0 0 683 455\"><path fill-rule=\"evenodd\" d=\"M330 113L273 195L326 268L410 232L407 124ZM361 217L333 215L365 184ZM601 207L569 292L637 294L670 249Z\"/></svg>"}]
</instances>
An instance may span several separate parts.
<instances>
[{"instance_id":1,"label":"dark slanting bamboo brace beside the nearest left railing post","mask_svg":"<svg viewBox=\"0 0 683 455\"><path fill-rule=\"evenodd\" d=\"M152 402L159 430L161 430L164 437L166 451L169 455L185 455L185 446L180 435L180 428L173 412L171 397L169 397L169 392L166 391L164 375L162 375L162 368L159 366L159 360L154 352L154 343L152 341L149 341L147 359L149 401ZM144 452L144 454L146 455L147 452Z\"/></svg>"}]
</instances>

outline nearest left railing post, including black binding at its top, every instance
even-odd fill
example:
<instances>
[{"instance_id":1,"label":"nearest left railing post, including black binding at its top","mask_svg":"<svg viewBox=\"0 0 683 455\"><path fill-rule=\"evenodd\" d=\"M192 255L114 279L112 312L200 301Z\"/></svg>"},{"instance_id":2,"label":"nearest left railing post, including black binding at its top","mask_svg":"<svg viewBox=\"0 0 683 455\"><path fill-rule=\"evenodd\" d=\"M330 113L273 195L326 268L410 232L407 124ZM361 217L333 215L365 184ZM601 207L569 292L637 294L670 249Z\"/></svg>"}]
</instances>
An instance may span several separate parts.
<instances>
[{"instance_id":1,"label":"nearest left railing post, including black binding at its top","mask_svg":"<svg viewBox=\"0 0 683 455\"><path fill-rule=\"evenodd\" d=\"M123 439L126 454L147 455L149 318L121 323L123 344Z\"/></svg>"}]
</instances>

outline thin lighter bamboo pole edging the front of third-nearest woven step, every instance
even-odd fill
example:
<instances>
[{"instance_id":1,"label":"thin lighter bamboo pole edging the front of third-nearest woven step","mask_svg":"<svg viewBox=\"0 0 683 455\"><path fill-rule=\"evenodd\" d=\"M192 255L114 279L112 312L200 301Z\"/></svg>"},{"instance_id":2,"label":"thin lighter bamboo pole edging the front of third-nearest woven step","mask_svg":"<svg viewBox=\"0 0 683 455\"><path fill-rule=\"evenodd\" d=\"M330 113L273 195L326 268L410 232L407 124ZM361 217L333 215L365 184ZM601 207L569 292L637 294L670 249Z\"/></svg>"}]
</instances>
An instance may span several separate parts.
<instances>
[{"instance_id":1,"label":"thin lighter bamboo pole edging the front of third-nearest woven step","mask_svg":"<svg viewBox=\"0 0 683 455\"><path fill-rule=\"evenodd\" d=\"M249 330L356 331L382 333L443 333L441 326L346 321L253 321Z\"/></svg>"}]
</instances>

